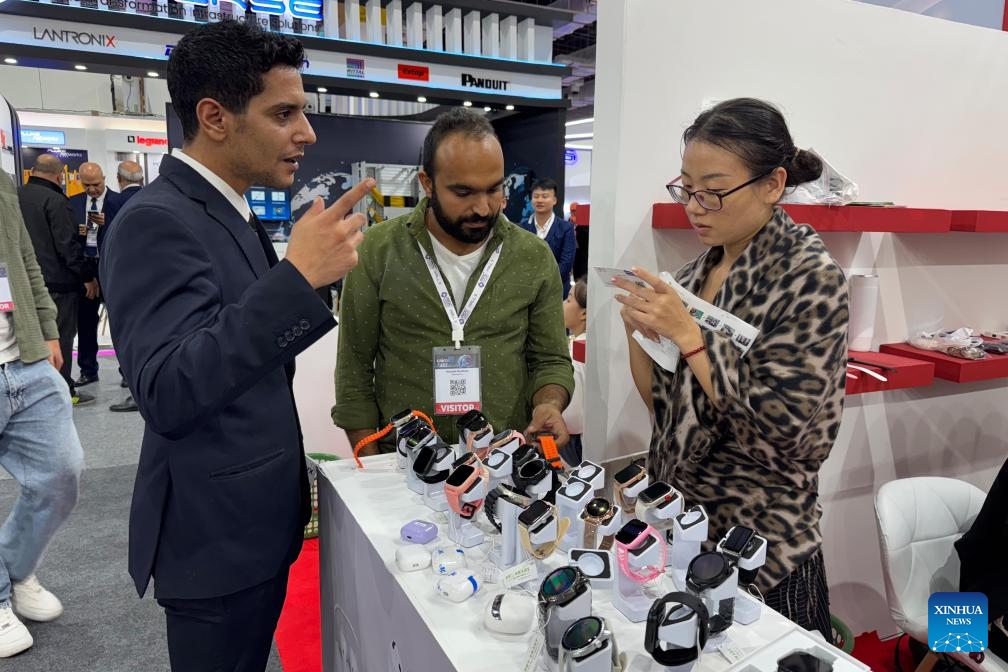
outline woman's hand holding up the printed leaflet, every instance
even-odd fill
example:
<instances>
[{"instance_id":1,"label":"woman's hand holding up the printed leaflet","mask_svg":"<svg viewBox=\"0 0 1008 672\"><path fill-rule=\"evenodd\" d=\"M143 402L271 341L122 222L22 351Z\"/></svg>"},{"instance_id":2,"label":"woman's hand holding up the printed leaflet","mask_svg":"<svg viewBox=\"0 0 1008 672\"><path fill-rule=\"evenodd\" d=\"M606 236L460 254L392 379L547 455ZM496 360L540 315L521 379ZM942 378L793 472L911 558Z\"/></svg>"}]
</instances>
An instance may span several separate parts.
<instances>
[{"instance_id":1,"label":"woman's hand holding up the printed leaflet","mask_svg":"<svg viewBox=\"0 0 1008 672\"><path fill-rule=\"evenodd\" d=\"M640 287L629 280L614 278L616 286L629 292L616 297L623 304L620 309L623 321L651 341L663 335L680 350L702 340L700 326L679 295L658 276L636 267L632 270L651 286Z\"/></svg>"}]
</instances>

